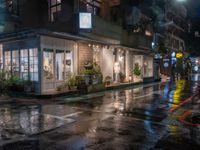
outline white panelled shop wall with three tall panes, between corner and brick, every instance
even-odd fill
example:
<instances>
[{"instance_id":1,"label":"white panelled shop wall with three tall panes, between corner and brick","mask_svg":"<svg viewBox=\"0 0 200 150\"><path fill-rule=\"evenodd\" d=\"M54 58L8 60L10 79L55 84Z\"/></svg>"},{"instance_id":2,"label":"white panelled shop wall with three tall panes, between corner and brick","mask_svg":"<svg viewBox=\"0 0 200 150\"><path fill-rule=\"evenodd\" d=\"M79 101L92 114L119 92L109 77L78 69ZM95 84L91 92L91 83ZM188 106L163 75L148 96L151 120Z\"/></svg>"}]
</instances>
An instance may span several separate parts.
<instances>
[{"instance_id":1,"label":"white panelled shop wall with three tall panes, between corner and brick","mask_svg":"<svg viewBox=\"0 0 200 150\"><path fill-rule=\"evenodd\" d=\"M41 36L42 92L55 90L75 71L77 43L71 40Z\"/></svg>"}]
</instances>

